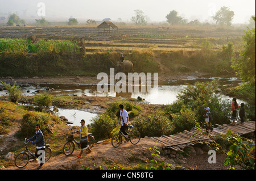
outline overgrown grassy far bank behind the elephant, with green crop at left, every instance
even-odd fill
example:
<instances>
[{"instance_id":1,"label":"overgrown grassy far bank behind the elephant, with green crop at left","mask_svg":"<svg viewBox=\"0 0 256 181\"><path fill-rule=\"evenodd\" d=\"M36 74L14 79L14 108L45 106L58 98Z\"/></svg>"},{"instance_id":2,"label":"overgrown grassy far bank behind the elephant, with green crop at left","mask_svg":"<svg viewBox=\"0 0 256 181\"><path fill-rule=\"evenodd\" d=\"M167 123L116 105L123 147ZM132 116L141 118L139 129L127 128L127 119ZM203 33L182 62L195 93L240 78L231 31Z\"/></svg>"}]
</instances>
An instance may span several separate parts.
<instances>
[{"instance_id":1,"label":"overgrown grassy far bank behind the elephant, with green crop at left","mask_svg":"<svg viewBox=\"0 0 256 181\"><path fill-rule=\"evenodd\" d=\"M0 76L97 75L109 73L122 53L134 64L135 72L159 72L161 66L173 72L232 71L233 44L216 50L204 40L196 50L155 51L96 50L86 52L84 44L72 40L0 39ZM161 65L162 64L162 65Z\"/></svg>"}]
</instances>

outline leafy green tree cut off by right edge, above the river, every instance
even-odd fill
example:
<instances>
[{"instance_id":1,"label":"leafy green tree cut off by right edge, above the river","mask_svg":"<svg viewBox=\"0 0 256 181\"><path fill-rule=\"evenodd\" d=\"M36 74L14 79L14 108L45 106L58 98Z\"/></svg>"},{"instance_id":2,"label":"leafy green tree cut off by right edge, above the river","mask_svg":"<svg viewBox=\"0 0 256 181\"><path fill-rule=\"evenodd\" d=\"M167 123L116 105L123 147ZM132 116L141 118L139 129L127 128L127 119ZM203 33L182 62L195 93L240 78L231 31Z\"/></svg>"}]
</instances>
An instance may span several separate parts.
<instances>
[{"instance_id":1,"label":"leafy green tree cut off by right edge, above the river","mask_svg":"<svg viewBox=\"0 0 256 181\"><path fill-rule=\"evenodd\" d=\"M255 16L251 17L255 21ZM241 75L243 81L255 84L255 28L245 31L243 50L239 58L232 58L232 67Z\"/></svg>"}]
</instances>

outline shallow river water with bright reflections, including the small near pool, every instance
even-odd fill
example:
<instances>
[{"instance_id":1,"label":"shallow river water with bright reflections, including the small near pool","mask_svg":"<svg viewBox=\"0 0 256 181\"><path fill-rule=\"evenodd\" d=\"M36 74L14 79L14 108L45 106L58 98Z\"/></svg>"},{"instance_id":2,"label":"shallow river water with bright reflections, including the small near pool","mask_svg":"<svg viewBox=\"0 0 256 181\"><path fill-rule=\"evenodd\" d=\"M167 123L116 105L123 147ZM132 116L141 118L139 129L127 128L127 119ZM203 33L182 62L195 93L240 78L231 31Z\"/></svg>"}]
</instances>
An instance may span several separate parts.
<instances>
[{"instance_id":1,"label":"shallow river water with bright reflections, including the small near pool","mask_svg":"<svg viewBox=\"0 0 256 181\"><path fill-rule=\"evenodd\" d=\"M36 90L40 90L40 92L48 92L53 95L73 95L73 96L121 96L121 97L130 97L137 98L141 96L146 102L149 104L171 104L176 100L176 96L187 84L193 84L195 82L210 82L213 80L218 80L218 83L222 86L233 87L241 84L241 79L236 77L231 78L221 78L221 77L193 77L189 76L187 79L183 80L175 80L170 79L168 81L158 82L158 86L152 88L150 92L146 93L101 93L97 91L97 85L67 85L67 84L26 84L22 85L23 95L32 96L38 94L35 92ZM141 87L140 87L141 88ZM0 91L0 96L6 95L7 92L5 90ZM223 99L232 98L228 96L222 95ZM240 100L238 100L238 104ZM80 125L80 120L85 119L86 124L90 124L90 119L96 116L95 113L89 113L85 111L79 110L65 110L59 109L59 116L65 116L68 120L73 121L72 125Z\"/></svg>"}]
</instances>

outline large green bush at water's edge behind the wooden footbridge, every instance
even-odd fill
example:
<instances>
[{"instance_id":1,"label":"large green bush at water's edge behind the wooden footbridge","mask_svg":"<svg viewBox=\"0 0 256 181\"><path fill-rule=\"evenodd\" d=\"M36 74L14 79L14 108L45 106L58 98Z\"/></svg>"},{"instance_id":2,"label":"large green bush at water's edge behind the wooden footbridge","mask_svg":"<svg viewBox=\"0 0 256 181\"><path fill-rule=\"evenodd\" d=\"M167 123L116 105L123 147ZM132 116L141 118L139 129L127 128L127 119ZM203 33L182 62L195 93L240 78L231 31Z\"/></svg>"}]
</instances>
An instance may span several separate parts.
<instances>
[{"instance_id":1,"label":"large green bush at water's edge behind the wooden footbridge","mask_svg":"<svg viewBox=\"0 0 256 181\"><path fill-rule=\"evenodd\" d=\"M212 124L227 124L230 121L231 103L222 100L220 94L217 94L217 90L217 82L196 82L195 85L189 85L181 90L177 98L185 107L191 108L195 112L197 121L204 123L204 108L209 107L213 116Z\"/></svg>"}]
</instances>

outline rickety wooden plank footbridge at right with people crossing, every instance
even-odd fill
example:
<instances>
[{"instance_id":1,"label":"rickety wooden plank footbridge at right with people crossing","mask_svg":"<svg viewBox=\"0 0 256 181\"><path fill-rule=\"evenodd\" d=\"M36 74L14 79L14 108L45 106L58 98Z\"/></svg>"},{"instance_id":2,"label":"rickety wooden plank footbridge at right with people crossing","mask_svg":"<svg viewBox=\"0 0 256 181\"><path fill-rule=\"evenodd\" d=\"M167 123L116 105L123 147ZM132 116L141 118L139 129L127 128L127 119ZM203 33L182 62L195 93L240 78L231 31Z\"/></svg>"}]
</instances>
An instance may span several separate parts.
<instances>
[{"instance_id":1,"label":"rickety wooden plank footbridge at right with people crossing","mask_svg":"<svg viewBox=\"0 0 256 181\"><path fill-rule=\"evenodd\" d=\"M226 134L229 130L239 135L254 134L255 136L255 121L248 121L242 124L224 124L218 125L212 132L209 132L210 136L216 136L218 134ZM191 131L185 130L184 132L176 133L171 136L151 137L156 142L163 144L163 149L172 149L175 151L183 152L183 149L188 145L193 145L195 141L210 140L207 134L203 134L202 131L198 131L196 128L192 128Z\"/></svg>"}]
</instances>

